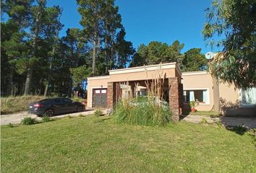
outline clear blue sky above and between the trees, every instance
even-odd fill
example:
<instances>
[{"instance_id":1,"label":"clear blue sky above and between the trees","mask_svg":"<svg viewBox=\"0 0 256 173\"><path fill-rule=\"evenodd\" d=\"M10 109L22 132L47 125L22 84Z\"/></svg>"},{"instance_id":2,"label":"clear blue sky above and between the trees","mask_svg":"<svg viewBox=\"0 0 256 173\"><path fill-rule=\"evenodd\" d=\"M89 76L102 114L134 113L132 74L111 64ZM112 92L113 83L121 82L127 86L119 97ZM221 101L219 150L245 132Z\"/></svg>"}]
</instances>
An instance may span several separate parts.
<instances>
[{"instance_id":1,"label":"clear blue sky above and between the trees","mask_svg":"<svg viewBox=\"0 0 256 173\"><path fill-rule=\"evenodd\" d=\"M50 0L48 6L63 8L61 22L65 25L60 35L66 35L69 27L79 27L81 19L75 0ZM205 9L210 0L116 0L126 39L135 48L141 43L160 41L171 44L174 40L184 43L182 53L190 48L202 48L202 53L218 51L206 46L202 37Z\"/></svg>"}]
</instances>

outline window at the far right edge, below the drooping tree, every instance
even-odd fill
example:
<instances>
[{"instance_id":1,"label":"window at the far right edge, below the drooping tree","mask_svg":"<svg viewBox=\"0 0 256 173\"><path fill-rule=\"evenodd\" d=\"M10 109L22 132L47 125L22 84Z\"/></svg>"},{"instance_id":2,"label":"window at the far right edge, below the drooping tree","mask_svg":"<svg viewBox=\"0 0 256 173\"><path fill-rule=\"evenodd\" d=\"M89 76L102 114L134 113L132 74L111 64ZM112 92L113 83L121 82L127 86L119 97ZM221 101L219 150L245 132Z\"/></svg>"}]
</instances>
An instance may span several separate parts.
<instances>
[{"instance_id":1,"label":"window at the far right edge, below the drooping tree","mask_svg":"<svg viewBox=\"0 0 256 173\"><path fill-rule=\"evenodd\" d=\"M242 105L250 106L256 105L256 87L247 90L241 90Z\"/></svg>"}]
</instances>

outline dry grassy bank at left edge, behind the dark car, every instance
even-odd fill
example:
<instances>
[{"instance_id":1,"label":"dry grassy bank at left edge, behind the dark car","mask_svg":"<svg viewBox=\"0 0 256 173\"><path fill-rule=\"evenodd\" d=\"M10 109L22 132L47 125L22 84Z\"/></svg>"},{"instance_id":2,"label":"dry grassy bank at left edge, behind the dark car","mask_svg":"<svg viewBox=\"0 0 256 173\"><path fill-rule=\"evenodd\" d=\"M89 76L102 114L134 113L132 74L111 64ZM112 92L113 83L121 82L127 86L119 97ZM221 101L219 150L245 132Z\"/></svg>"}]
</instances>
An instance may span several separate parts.
<instances>
[{"instance_id":1,"label":"dry grassy bank at left edge, behind the dark car","mask_svg":"<svg viewBox=\"0 0 256 173\"><path fill-rule=\"evenodd\" d=\"M1 114L28 110L28 105L45 99L43 96L1 97Z\"/></svg>"}]
</instances>

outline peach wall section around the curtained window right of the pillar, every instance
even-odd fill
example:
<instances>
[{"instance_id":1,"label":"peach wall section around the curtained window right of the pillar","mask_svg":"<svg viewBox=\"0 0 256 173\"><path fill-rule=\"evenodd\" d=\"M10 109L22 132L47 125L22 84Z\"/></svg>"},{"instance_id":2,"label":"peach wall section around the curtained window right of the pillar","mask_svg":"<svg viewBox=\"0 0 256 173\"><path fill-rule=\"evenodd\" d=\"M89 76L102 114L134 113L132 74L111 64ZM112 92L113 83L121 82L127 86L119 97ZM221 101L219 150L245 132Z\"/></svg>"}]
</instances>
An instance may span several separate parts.
<instances>
[{"instance_id":1,"label":"peach wall section around the curtained window right of the pillar","mask_svg":"<svg viewBox=\"0 0 256 173\"><path fill-rule=\"evenodd\" d=\"M182 84L184 90L189 89L208 89L209 104L197 105L196 109L201 111L209 111L214 108L213 97L213 79L210 74L205 72L187 72L182 74ZM185 108L189 108L187 103L184 104Z\"/></svg>"}]
</instances>

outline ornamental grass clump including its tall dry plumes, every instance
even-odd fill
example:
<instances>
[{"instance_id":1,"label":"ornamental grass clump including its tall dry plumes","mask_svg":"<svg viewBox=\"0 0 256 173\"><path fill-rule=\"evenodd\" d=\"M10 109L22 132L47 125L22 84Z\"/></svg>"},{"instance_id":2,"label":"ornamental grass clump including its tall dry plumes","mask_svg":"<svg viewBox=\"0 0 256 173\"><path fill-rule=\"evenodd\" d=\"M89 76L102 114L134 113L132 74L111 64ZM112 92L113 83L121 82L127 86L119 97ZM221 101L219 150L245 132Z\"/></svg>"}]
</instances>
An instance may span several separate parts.
<instances>
[{"instance_id":1,"label":"ornamental grass clump including its tall dry plumes","mask_svg":"<svg viewBox=\"0 0 256 173\"><path fill-rule=\"evenodd\" d=\"M121 98L114 109L113 116L118 123L137 125L166 125L171 121L171 110L167 102L163 102L163 83L161 65L155 77L145 81L147 95L135 97L135 92L127 98ZM147 70L146 70L147 73ZM129 86L129 82L124 84ZM137 84L135 88L137 87Z\"/></svg>"}]
</instances>

